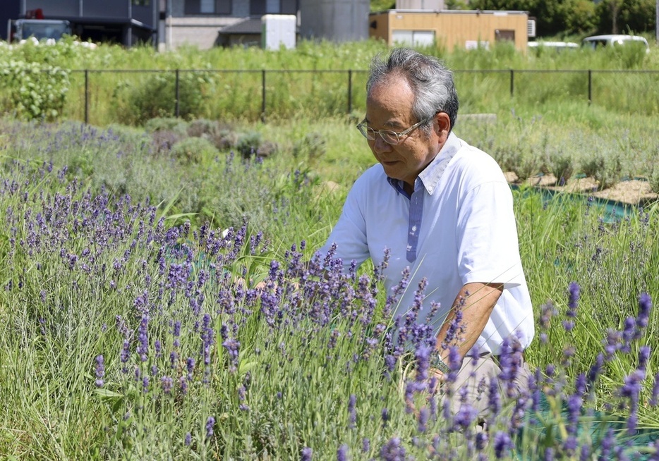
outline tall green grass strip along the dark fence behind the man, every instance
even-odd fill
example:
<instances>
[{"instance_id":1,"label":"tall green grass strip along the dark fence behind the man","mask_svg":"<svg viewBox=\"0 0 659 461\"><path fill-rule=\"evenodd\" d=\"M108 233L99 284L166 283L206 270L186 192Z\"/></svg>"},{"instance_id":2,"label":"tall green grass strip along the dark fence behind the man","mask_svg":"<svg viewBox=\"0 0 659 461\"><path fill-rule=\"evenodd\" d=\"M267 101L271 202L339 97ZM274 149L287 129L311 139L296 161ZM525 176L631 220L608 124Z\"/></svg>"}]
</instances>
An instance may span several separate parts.
<instances>
[{"instance_id":1,"label":"tall green grass strip along the dark fence behind the man","mask_svg":"<svg viewBox=\"0 0 659 461\"><path fill-rule=\"evenodd\" d=\"M67 118L83 120L85 116L85 84L81 70L87 75L90 94L88 116L96 125L125 120L130 114L127 102L148 104L157 80L169 84L159 93L165 109L174 111L174 73L201 78L196 92L204 94L204 102L190 109L190 116L200 118L258 120L261 115L262 70L270 71L265 82L266 111L270 118L288 118L293 113L331 115L346 111L348 70L353 70L353 109L363 111L363 78L370 59L386 52L381 42L358 43L299 42L296 49L265 51L261 49L182 49L172 53L156 53L149 47L130 50L103 45L90 50L61 42L56 47L0 47L4 61L27 61L59 66L71 70L71 92L67 94ZM588 102L588 70L593 70L592 99L614 113L656 114L659 100L651 83L656 74L636 73L659 70L658 55L638 54L635 50L571 50L550 53L533 50L522 54L508 45L492 50L453 50L435 48L423 51L436 54L447 65L459 71L457 86L468 111L500 113L511 104L533 106L545 102L580 100ZM545 50L546 51L546 50ZM514 76L514 96L510 95L509 70ZM126 72L126 71L131 72ZM167 70L162 75L135 73L135 70ZM192 71L196 72L192 72ZM341 72L338 72L338 71ZM558 71L564 72L558 72ZM604 73L603 71L634 73ZM122 71L118 73L117 71ZM533 72L529 72L533 71ZM543 71L543 72L540 72ZM577 72L578 71L578 72ZM476 73L475 73L476 72ZM548 72L551 72L548 74ZM181 92L194 88L195 78L179 82ZM11 90L11 89L10 89ZM6 94L7 89L3 94ZM622 95L624 97L621 97ZM182 102L183 106L186 102ZM6 110L11 110L11 106ZM158 114L167 115L167 114ZM133 113L131 123L145 120Z\"/></svg>"}]
</instances>

